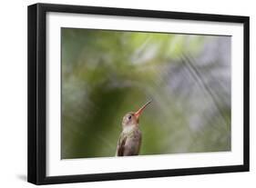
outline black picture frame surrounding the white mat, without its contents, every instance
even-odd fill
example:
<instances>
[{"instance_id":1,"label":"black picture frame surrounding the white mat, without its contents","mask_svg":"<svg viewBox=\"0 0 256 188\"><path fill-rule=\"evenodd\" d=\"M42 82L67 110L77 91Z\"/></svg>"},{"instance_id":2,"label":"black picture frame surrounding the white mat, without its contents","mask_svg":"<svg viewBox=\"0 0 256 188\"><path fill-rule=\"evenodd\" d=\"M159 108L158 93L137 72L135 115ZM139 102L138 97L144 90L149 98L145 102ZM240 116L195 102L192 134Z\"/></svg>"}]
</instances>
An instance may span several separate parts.
<instances>
[{"instance_id":1,"label":"black picture frame surrounding the white mat, without its contents","mask_svg":"<svg viewBox=\"0 0 256 188\"><path fill-rule=\"evenodd\" d=\"M243 24L243 164L185 169L152 170L124 173L73 174L46 176L46 13L76 13L89 15L121 15L191 21L211 21ZM250 143L250 65L248 16L208 15L153 10L94 7L81 5L36 4L28 6L28 138L27 181L35 184L78 183L132 178L191 175L203 173L232 173L249 171Z\"/></svg>"}]
</instances>

